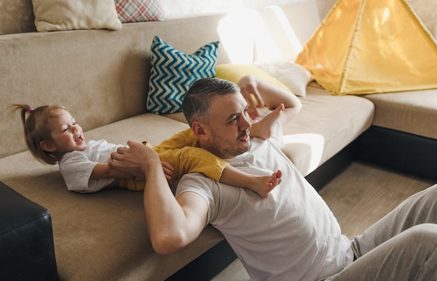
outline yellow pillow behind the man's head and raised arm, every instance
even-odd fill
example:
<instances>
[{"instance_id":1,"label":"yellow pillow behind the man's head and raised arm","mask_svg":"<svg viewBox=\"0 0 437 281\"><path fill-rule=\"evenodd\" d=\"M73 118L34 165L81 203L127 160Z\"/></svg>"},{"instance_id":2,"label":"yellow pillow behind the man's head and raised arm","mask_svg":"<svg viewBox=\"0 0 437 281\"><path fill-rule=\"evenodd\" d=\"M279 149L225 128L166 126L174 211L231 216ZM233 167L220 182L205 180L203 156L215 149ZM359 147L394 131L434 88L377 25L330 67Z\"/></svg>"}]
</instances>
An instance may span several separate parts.
<instances>
[{"instance_id":1,"label":"yellow pillow behind the man's head and raised arm","mask_svg":"<svg viewBox=\"0 0 437 281\"><path fill-rule=\"evenodd\" d=\"M286 85L279 82L278 79L270 76L261 68L253 66L251 64L225 63L216 66L217 78L225 79L230 82L234 82L235 84L237 84L239 82L239 79L242 79L244 75L249 75L249 74L258 77L260 79L263 79L267 82L270 82L272 84L275 84L276 86L280 86L281 88L286 89L287 91L292 93L292 91L288 89Z\"/></svg>"}]
</instances>

